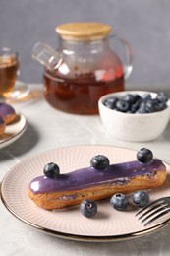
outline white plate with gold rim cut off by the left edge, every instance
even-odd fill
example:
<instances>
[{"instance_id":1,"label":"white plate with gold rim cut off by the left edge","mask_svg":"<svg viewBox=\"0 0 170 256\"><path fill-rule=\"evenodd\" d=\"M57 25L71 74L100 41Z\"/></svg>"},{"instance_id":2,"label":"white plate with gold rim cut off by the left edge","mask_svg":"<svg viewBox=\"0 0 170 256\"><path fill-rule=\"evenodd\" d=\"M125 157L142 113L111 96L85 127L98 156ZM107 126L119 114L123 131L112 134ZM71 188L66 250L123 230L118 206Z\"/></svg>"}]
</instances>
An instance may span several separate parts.
<instances>
[{"instance_id":1,"label":"white plate with gold rim cut off by the left edge","mask_svg":"<svg viewBox=\"0 0 170 256\"><path fill-rule=\"evenodd\" d=\"M19 139L27 128L27 119L24 115L18 114L16 120L8 124L5 133L0 136L0 149L8 146Z\"/></svg>"}]
</instances>

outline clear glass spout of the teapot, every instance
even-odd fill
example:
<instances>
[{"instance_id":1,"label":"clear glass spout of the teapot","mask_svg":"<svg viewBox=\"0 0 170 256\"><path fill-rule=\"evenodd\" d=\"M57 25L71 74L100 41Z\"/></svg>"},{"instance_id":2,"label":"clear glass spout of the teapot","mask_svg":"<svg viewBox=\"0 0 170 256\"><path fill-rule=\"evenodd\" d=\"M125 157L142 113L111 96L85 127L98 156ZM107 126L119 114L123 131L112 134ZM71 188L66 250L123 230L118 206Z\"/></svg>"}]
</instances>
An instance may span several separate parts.
<instances>
[{"instance_id":1,"label":"clear glass spout of the teapot","mask_svg":"<svg viewBox=\"0 0 170 256\"><path fill-rule=\"evenodd\" d=\"M50 70L56 70L62 63L61 54L44 42L37 42L32 49L32 58Z\"/></svg>"}]
</instances>

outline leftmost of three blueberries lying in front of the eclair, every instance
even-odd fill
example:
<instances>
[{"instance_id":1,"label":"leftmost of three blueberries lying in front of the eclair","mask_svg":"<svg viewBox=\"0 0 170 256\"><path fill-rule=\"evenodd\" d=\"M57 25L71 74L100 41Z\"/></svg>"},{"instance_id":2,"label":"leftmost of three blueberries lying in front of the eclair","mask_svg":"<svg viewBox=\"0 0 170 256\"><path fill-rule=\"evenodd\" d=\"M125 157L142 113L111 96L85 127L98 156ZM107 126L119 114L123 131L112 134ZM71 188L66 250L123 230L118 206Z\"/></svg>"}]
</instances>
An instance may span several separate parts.
<instances>
[{"instance_id":1,"label":"leftmost of three blueberries lying in front of the eclair","mask_svg":"<svg viewBox=\"0 0 170 256\"><path fill-rule=\"evenodd\" d=\"M80 212L85 216L85 217L93 217L97 213L97 204L90 200L90 199L85 199L81 204L80 204Z\"/></svg>"}]
</instances>

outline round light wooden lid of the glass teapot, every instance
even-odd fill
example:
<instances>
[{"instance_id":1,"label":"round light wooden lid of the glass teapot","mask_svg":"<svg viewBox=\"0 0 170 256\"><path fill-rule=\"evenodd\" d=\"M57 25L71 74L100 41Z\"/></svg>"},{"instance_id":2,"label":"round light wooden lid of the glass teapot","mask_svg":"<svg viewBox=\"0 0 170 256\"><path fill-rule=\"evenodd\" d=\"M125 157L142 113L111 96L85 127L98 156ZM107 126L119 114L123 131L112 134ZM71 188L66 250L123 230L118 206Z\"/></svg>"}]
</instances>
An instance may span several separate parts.
<instances>
[{"instance_id":1,"label":"round light wooden lid of the glass teapot","mask_svg":"<svg viewBox=\"0 0 170 256\"><path fill-rule=\"evenodd\" d=\"M56 32L65 40L87 41L106 37L111 27L101 23L67 23L56 27Z\"/></svg>"}]
</instances>

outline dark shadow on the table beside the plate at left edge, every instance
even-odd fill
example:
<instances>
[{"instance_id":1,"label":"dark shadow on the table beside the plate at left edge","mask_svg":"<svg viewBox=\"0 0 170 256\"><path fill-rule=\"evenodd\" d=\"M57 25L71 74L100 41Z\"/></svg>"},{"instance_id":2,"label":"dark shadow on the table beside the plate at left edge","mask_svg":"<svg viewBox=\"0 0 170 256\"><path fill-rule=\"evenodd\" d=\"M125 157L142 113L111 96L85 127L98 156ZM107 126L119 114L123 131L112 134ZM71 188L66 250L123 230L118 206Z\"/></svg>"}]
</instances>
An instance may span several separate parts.
<instances>
[{"instance_id":1,"label":"dark shadow on the table beside the plate at left edge","mask_svg":"<svg viewBox=\"0 0 170 256\"><path fill-rule=\"evenodd\" d=\"M8 160L19 157L34 148L40 139L38 131L28 123L25 133L11 145L0 150L0 160Z\"/></svg>"}]
</instances>

